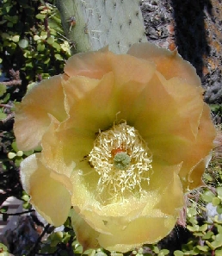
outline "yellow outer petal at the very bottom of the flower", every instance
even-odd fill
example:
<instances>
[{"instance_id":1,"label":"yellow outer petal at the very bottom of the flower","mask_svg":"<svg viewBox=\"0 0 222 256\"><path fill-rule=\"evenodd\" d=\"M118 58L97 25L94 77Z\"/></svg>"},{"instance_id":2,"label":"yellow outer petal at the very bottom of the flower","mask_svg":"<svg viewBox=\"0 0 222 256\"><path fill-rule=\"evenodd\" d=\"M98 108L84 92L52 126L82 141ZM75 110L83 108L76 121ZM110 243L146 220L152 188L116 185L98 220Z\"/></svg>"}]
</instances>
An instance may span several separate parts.
<instances>
[{"instance_id":1,"label":"yellow outer petal at the very bottom of the flower","mask_svg":"<svg viewBox=\"0 0 222 256\"><path fill-rule=\"evenodd\" d=\"M163 218L139 217L125 227L115 225L108 227L112 234L100 234L99 244L109 251L126 253L135 247L142 247L145 243L152 244L163 239L174 228L176 217Z\"/></svg>"}]
</instances>

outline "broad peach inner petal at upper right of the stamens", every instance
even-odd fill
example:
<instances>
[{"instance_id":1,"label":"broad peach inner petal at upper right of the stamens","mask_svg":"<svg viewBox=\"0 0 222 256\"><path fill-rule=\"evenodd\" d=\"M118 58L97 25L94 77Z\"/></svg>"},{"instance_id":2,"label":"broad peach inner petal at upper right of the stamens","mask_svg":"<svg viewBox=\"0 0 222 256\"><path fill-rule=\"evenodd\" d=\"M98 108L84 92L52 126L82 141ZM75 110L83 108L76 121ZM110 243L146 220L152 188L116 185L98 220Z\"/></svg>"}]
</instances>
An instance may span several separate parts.
<instances>
[{"instance_id":1,"label":"broad peach inner petal at upper right of the stamens","mask_svg":"<svg viewBox=\"0 0 222 256\"><path fill-rule=\"evenodd\" d=\"M141 98L143 110L134 122L135 127L144 139L154 134L175 134L194 140L203 107L201 92L182 79L166 80L156 72Z\"/></svg>"}]
</instances>

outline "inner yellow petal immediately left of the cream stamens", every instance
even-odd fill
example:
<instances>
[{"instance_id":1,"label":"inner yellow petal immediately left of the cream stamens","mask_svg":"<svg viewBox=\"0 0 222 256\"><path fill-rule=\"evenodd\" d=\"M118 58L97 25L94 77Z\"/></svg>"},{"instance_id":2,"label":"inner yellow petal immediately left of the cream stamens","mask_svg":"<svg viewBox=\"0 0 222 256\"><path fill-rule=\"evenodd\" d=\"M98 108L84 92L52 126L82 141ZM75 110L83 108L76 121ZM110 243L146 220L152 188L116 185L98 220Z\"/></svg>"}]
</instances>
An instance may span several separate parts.
<instances>
[{"instance_id":1,"label":"inner yellow petal immediately left of the cream stamens","mask_svg":"<svg viewBox=\"0 0 222 256\"><path fill-rule=\"evenodd\" d=\"M74 168L81 169L83 162L87 162L85 158L94 145L94 137L75 128L61 127L52 123L43 136L42 161L53 171L70 177Z\"/></svg>"}]
</instances>

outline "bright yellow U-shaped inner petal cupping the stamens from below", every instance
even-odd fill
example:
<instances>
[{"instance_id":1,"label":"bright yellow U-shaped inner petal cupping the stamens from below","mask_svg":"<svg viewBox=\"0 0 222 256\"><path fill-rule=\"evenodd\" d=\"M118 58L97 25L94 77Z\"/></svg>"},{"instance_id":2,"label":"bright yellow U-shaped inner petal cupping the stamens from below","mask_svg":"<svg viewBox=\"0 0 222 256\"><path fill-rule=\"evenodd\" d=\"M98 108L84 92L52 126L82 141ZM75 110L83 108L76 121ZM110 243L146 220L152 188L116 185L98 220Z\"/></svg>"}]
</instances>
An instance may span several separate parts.
<instances>
[{"instance_id":1,"label":"bright yellow U-shaped inner petal cupping the stamens from below","mask_svg":"<svg viewBox=\"0 0 222 256\"><path fill-rule=\"evenodd\" d=\"M125 227L139 216L150 218L172 217L176 219L183 207L182 184L178 177L181 165L154 165L150 184L141 198L129 197L122 202L103 205L96 189L96 177L93 172L82 174L73 172L72 204L78 209L83 219L102 234L113 234L114 226ZM97 177L98 179L98 177ZM89 183L91 181L91 183ZM107 195L109 197L109 195ZM170 197L170 201L168 198ZM121 210L119 210L121 209ZM176 222L175 222L176 223ZM149 231L149 227L146 227ZM168 231L170 232L170 230ZM143 242L145 243L146 240Z\"/></svg>"}]
</instances>

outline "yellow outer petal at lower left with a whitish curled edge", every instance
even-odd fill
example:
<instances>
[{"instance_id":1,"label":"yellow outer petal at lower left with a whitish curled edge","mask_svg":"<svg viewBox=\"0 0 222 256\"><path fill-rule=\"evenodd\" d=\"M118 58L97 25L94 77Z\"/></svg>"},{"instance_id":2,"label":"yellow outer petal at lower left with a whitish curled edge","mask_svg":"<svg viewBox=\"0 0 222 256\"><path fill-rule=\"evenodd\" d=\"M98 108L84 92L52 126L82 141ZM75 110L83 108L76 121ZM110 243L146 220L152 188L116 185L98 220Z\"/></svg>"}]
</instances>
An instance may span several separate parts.
<instances>
[{"instance_id":1,"label":"yellow outer petal at lower left with a whitish curled edge","mask_svg":"<svg viewBox=\"0 0 222 256\"><path fill-rule=\"evenodd\" d=\"M51 173L50 169L42 165L38 154L22 161L22 185L31 196L30 202L47 222L60 226L71 209L71 193L61 183L64 178L54 179Z\"/></svg>"}]
</instances>

